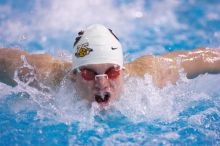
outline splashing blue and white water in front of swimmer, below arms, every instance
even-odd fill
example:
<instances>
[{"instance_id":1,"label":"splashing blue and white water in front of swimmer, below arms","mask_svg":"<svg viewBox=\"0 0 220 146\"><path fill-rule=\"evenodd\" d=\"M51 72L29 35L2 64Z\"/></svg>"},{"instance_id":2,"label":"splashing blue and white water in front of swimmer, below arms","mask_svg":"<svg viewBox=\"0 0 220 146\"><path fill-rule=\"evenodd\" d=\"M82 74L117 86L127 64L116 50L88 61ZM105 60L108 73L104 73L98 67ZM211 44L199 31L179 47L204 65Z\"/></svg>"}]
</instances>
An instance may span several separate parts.
<instances>
[{"instance_id":1,"label":"splashing blue and white water in front of swimmer, below arms","mask_svg":"<svg viewBox=\"0 0 220 146\"><path fill-rule=\"evenodd\" d=\"M68 80L51 94L22 83L15 88L0 84L4 89L0 95L1 144L13 137L10 141L18 145L36 144L32 141L46 145L201 141L217 145L219 82L220 75L203 75L193 80L182 77L177 85L158 89L148 75L144 79L126 77L122 97L104 108L78 97ZM209 88L204 90L207 83ZM35 138L27 137L31 134Z\"/></svg>"}]
</instances>

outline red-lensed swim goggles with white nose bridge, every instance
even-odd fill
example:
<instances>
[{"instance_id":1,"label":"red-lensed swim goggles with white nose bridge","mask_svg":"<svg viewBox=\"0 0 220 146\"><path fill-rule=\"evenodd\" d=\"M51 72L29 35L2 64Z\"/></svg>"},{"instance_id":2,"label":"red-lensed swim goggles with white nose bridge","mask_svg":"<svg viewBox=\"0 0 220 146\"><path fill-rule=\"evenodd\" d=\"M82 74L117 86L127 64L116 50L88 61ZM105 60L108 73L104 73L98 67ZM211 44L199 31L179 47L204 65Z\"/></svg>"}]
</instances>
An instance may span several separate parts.
<instances>
[{"instance_id":1,"label":"red-lensed swim goggles with white nose bridge","mask_svg":"<svg viewBox=\"0 0 220 146\"><path fill-rule=\"evenodd\" d=\"M88 68L77 68L82 78L86 81L97 80L99 77L106 77L107 79L116 79L120 75L120 66L112 66L105 71L104 74L98 74L96 71Z\"/></svg>"}]
</instances>

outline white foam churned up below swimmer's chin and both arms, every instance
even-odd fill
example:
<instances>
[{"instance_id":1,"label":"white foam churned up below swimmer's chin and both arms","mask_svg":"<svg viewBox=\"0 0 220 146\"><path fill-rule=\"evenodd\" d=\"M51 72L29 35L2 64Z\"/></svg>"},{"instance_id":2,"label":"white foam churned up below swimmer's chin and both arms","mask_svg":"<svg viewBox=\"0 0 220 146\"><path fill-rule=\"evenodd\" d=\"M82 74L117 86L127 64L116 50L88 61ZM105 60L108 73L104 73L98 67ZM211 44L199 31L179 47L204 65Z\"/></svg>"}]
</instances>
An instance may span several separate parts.
<instances>
[{"instance_id":1,"label":"white foam churned up below swimmer's chin and both arms","mask_svg":"<svg viewBox=\"0 0 220 146\"><path fill-rule=\"evenodd\" d=\"M0 88L4 88L0 99L7 94L23 92L24 97L20 96L17 102L11 105L15 113L34 110L37 112L36 118L46 118L68 125L79 122L82 130L96 125L95 116L100 116L102 110L111 112L111 109L119 111L134 123L158 119L164 122L176 121L179 114L191 107L193 102L220 96L217 86L219 82L220 75L202 75L193 80L182 77L177 85L159 89L152 84L150 76L146 75L144 79L128 77L122 97L104 109L95 102L90 104L81 99L76 94L72 82L68 80L64 81L59 92L51 94L39 92L22 83L15 88L0 84ZM207 84L208 86L205 86ZM191 116L189 122L203 124L201 119L202 115L197 114ZM98 132L102 133L102 128Z\"/></svg>"}]
</instances>

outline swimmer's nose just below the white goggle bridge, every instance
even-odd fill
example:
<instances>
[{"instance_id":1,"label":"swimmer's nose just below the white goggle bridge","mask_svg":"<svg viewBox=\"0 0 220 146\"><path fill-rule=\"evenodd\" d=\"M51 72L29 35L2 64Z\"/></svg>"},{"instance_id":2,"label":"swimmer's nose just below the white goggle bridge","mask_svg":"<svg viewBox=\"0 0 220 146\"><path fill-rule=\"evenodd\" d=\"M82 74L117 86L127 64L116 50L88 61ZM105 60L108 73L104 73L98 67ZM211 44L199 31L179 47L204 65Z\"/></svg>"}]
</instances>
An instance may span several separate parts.
<instances>
[{"instance_id":1,"label":"swimmer's nose just below the white goggle bridge","mask_svg":"<svg viewBox=\"0 0 220 146\"><path fill-rule=\"evenodd\" d=\"M95 87L97 90L106 90L109 87L108 76L96 76L95 78Z\"/></svg>"}]
</instances>

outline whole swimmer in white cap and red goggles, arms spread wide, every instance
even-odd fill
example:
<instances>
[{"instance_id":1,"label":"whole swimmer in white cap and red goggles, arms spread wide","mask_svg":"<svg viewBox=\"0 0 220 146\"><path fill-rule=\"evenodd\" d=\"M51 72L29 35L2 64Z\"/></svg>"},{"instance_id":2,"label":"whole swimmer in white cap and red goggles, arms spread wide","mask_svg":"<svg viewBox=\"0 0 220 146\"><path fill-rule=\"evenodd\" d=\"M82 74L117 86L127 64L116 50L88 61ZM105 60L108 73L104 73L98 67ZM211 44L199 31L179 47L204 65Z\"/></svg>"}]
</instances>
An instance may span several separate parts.
<instances>
[{"instance_id":1,"label":"whole swimmer in white cap and red goggles, arms spread wide","mask_svg":"<svg viewBox=\"0 0 220 146\"><path fill-rule=\"evenodd\" d=\"M175 84L179 71L192 79L204 73L220 73L220 50L198 48L174 51L161 56L145 55L124 64L119 39L103 25L80 31L73 44L72 62L48 54L30 54L19 49L0 49L0 81L16 86L22 81L49 92L59 87L64 77L71 80L77 94L88 101L108 105L120 97L123 76L152 76L155 86Z\"/></svg>"}]
</instances>

